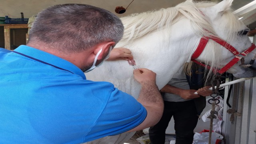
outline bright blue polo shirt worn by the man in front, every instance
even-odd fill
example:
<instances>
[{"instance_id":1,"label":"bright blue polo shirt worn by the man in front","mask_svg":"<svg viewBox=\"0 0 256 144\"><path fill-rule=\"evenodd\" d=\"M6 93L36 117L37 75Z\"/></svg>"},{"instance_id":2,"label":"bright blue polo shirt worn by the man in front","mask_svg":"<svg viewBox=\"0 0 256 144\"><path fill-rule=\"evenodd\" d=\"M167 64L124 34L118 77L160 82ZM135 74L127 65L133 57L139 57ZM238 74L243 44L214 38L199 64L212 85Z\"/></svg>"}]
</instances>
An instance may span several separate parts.
<instances>
[{"instance_id":1,"label":"bright blue polo shirt worn by the man in front","mask_svg":"<svg viewBox=\"0 0 256 144\"><path fill-rule=\"evenodd\" d=\"M102 73L103 74L103 73ZM0 144L78 144L126 132L146 109L109 82L29 47L0 48Z\"/></svg>"}]
</instances>

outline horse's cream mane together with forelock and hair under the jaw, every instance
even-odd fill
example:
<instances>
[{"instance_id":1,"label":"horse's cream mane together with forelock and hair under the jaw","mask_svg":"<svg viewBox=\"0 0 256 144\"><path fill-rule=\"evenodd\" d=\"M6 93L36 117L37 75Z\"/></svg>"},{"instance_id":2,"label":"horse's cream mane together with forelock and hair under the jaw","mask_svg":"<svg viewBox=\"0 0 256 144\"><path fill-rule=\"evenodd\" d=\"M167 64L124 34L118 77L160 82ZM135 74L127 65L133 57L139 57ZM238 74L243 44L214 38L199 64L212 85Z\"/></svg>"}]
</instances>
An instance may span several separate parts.
<instances>
[{"instance_id":1,"label":"horse's cream mane together with forelock and hair under the jaw","mask_svg":"<svg viewBox=\"0 0 256 144\"><path fill-rule=\"evenodd\" d=\"M198 8L207 8L214 6L216 3L213 2L192 2L187 0L182 2L175 7L162 8L160 10L153 10L143 13L131 14L121 18L124 24L124 36L122 41L132 41L136 38L140 38L150 32L156 30L163 30L170 32L170 28L173 24L178 22L182 18L190 20L190 24L198 35L204 36L217 36L216 32L208 22L207 18L202 14ZM242 22L238 22L238 18L232 14L231 9L227 9L222 12L222 16L226 18L226 30L228 30L228 38L232 39L236 35L236 32L240 31ZM217 36L218 37L218 36ZM229 41L229 40L226 40ZM209 41L209 56L212 57L211 62L205 62L210 64L212 67L218 67L218 60L220 56L220 46L216 42ZM214 54L214 56L212 56ZM189 69L189 68L188 68Z\"/></svg>"}]
</instances>

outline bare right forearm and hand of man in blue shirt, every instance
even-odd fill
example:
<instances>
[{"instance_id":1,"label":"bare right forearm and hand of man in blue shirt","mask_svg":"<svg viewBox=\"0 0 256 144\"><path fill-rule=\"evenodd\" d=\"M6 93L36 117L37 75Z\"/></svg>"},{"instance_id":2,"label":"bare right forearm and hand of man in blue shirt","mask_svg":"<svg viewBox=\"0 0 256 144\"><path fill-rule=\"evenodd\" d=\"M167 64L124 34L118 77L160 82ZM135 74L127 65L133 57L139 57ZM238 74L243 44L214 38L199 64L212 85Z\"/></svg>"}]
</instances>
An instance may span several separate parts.
<instances>
[{"instance_id":1,"label":"bare right forearm and hand of man in blue shirt","mask_svg":"<svg viewBox=\"0 0 256 144\"><path fill-rule=\"evenodd\" d=\"M140 96L137 100L146 108L147 116L140 125L128 132L154 126L159 122L164 110L162 95L156 85L156 73L146 68L138 68L134 70L134 78L141 84Z\"/></svg>"}]
</instances>

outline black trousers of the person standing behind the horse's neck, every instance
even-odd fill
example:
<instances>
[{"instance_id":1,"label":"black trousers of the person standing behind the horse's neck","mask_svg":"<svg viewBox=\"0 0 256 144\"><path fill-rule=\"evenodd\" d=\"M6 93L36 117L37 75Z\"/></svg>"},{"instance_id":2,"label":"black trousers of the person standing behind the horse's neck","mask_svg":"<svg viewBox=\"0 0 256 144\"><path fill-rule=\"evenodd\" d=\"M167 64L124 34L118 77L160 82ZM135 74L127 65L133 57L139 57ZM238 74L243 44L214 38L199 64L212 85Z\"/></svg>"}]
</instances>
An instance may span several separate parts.
<instances>
[{"instance_id":1,"label":"black trousers of the person standing behind the horse's neck","mask_svg":"<svg viewBox=\"0 0 256 144\"><path fill-rule=\"evenodd\" d=\"M149 129L150 144L164 144L165 131L171 118L174 118L176 144L192 144L198 115L194 100L185 102L164 101L161 120Z\"/></svg>"}]
</instances>

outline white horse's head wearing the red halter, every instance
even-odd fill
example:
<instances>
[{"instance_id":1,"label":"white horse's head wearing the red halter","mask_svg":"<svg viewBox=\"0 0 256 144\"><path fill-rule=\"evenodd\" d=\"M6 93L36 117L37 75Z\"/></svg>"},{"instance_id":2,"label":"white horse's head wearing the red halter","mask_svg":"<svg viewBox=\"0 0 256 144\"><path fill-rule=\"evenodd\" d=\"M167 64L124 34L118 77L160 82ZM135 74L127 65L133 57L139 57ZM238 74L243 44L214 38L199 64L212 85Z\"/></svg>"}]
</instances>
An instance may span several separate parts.
<instances>
[{"instance_id":1,"label":"white horse's head wearing the red halter","mask_svg":"<svg viewBox=\"0 0 256 144\"><path fill-rule=\"evenodd\" d=\"M238 20L238 17L235 16L230 10L232 1L233 0L223 0L222 2L210 7L204 5L204 7L201 6L201 8L198 8L212 27L210 30L208 28L205 28L206 31L210 31L210 35L216 36L230 44L225 44L225 42L223 46L221 46L220 44L214 44L214 46L217 46L219 49L216 50L219 51L217 52L218 56L216 55L219 62L218 64L215 64L215 66L217 66L218 68L223 68L228 65L228 62L236 60L235 57L237 57L238 60L244 57L244 63L249 64L250 60L252 60L252 58L256 54L256 49L250 48L252 46L252 43L247 36L247 33L250 31L250 29L247 28L240 20ZM209 44L206 45L205 49L209 49L212 46L212 44L210 43L216 42L210 39ZM226 48L224 48L225 46ZM233 52L231 50L232 48L237 50L238 53ZM248 48L250 48L250 51L252 50L252 52L247 54L247 56L246 54L240 54ZM206 52L202 52L202 55L203 54L206 54ZM205 56L199 56L198 60L208 61ZM238 62L238 60L230 65L231 68L230 66L226 66L227 68L225 69L225 71L227 70L227 72L232 73L237 78L256 76L256 72L254 70L256 68L256 63L254 63L250 67L243 67L241 66L240 61Z\"/></svg>"}]
</instances>

